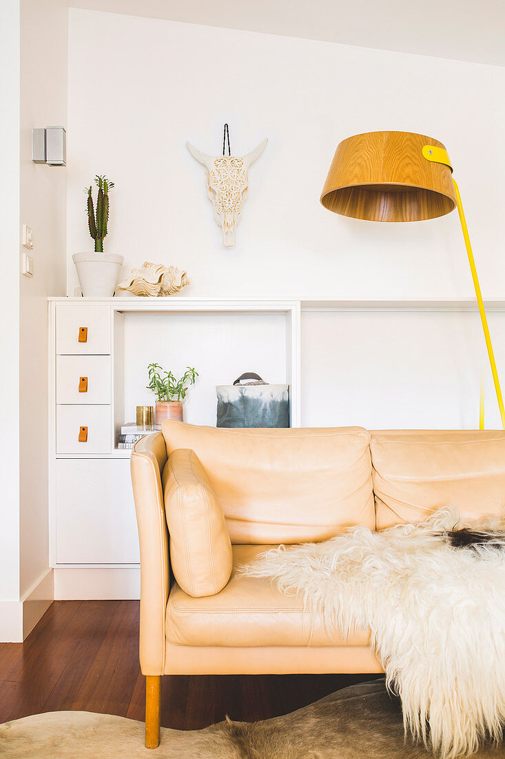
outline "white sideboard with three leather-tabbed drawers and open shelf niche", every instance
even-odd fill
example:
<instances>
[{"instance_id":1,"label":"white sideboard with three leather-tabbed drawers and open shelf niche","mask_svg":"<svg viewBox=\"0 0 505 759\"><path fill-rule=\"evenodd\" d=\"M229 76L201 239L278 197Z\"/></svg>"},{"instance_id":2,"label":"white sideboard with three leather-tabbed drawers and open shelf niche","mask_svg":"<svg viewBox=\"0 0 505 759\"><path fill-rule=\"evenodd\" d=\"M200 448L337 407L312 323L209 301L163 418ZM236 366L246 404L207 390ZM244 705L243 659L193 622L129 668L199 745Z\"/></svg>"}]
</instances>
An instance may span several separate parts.
<instances>
[{"instance_id":1,"label":"white sideboard with three leather-tabbed drawers and open shelf niche","mask_svg":"<svg viewBox=\"0 0 505 759\"><path fill-rule=\"evenodd\" d=\"M49 555L57 598L139 597L130 451L121 425L154 405L147 364L199 370L188 421L215 424L215 385L247 370L290 386L300 425L300 302L52 298L49 301Z\"/></svg>"}]
</instances>

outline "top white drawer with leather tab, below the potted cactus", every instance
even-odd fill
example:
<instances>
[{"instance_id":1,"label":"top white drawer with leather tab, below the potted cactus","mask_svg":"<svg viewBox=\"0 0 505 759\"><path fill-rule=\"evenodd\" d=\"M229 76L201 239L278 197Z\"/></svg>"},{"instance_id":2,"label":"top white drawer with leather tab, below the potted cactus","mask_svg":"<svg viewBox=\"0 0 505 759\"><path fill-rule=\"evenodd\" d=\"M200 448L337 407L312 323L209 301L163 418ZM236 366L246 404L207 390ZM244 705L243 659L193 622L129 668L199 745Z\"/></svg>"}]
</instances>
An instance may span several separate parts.
<instances>
[{"instance_id":1,"label":"top white drawer with leather tab, below the potted cactus","mask_svg":"<svg viewBox=\"0 0 505 759\"><path fill-rule=\"evenodd\" d=\"M58 303L56 353L67 355L111 352L111 310L108 306Z\"/></svg>"}]
</instances>

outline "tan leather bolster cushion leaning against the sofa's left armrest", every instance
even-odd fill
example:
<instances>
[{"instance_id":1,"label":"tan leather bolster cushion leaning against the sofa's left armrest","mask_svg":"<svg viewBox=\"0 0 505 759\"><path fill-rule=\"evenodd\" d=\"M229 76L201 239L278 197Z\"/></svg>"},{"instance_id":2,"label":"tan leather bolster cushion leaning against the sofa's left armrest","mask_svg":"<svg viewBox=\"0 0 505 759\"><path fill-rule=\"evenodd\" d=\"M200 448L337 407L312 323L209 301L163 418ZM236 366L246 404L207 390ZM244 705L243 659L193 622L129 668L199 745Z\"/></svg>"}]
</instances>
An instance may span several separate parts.
<instances>
[{"instance_id":1,"label":"tan leather bolster cushion leaning against the sofa's left armrest","mask_svg":"<svg viewBox=\"0 0 505 759\"><path fill-rule=\"evenodd\" d=\"M190 449L171 453L163 470L171 565L190 596L213 596L231 576L233 554L221 504Z\"/></svg>"}]
</instances>

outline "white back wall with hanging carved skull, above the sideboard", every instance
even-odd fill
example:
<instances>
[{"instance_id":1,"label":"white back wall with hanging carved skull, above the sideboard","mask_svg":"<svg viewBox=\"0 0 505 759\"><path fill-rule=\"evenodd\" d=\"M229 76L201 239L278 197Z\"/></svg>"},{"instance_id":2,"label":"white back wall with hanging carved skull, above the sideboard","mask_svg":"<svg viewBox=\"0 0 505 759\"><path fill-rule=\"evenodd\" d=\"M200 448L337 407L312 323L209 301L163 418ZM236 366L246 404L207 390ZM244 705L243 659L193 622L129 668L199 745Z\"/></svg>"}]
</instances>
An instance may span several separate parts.
<instances>
[{"instance_id":1,"label":"white back wall with hanging carved skull, above the sideboard","mask_svg":"<svg viewBox=\"0 0 505 759\"><path fill-rule=\"evenodd\" d=\"M75 9L69 49L69 259L93 249L83 188L106 172L106 250L125 272L143 260L187 269L186 294L471 295L455 213L375 224L319 203L341 139L397 129L446 144L482 289L503 294L503 68ZM224 121L234 153L269 139L231 249L185 147L218 154ZM73 293L72 263L69 274Z\"/></svg>"}]
</instances>

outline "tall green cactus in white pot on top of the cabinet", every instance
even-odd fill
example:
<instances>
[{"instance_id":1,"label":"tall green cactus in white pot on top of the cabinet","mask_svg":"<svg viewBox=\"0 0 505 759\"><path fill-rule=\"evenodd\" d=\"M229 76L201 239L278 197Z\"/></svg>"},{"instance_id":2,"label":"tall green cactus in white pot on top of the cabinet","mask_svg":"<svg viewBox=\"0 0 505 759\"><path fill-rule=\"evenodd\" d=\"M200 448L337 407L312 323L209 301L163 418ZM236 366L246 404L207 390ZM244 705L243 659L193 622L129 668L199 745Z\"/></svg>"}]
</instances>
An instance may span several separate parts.
<instances>
[{"instance_id":1,"label":"tall green cactus in white pot on top of the cabinet","mask_svg":"<svg viewBox=\"0 0 505 759\"><path fill-rule=\"evenodd\" d=\"M123 266L123 257L103 252L103 241L108 232L109 191L114 187L105 175L97 174L95 184L98 187L96 210L93 205L93 184L86 187L86 217L89 235L95 241L94 253L76 253L72 257L77 269L80 288L85 298L110 298L118 284L119 270Z\"/></svg>"}]
</instances>

